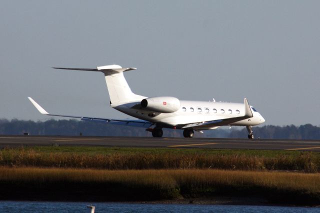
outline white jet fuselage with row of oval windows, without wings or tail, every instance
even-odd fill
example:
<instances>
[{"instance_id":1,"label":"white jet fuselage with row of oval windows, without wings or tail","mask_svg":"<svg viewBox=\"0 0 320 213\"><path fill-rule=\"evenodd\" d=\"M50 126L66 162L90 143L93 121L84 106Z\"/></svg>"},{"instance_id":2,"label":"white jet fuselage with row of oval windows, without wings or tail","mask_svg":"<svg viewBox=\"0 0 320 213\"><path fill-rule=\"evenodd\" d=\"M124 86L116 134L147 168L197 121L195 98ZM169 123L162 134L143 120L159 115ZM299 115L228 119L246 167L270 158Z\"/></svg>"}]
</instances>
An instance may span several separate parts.
<instances>
[{"instance_id":1,"label":"white jet fuselage with row of oval windows, without wings or tail","mask_svg":"<svg viewBox=\"0 0 320 213\"><path fill-rule=\"evenodd\" d=\"M206 101L190 101L180 100L180 107L177 111L171 113L156 113L155 116L150 116L150 113L154 111L145 110L143 108L131 108L132 106L139 104L140 102L128 102L122 104L111 104L111 106L123 113L131 115L133 117L147 120L153 123L164 123L169 126L175 126L177 124L186 124L194 122L204 122L216 119L225 119L235 116L244 115L243 103L231 103L231 102L206 102ZM252 106L253 117L243 119L237 122L233 122L230 125L258 125L264 122L264 118L259 112L257 112ZM194 129L214 129L214 127L197 127Z\"/></svg>"}]
</instances>

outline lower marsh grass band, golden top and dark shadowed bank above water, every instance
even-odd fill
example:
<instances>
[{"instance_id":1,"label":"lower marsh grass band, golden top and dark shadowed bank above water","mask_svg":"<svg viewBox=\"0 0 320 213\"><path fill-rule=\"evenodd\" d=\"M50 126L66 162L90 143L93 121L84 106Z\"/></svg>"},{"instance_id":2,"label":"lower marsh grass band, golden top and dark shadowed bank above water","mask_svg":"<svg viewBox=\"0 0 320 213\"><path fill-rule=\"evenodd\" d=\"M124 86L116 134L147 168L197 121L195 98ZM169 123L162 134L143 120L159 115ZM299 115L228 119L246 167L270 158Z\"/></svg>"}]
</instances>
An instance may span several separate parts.
<instances>
[{"instance_id":1,"label":"lower marsh grass band, golden top and dark shadowed bank above water","mask_svg":"<svg viewBox=\"0 0 320 213\"><path fill-rule=\"evenodd\" d=\"M0 198L154 200L255 195L273 203L320 203L320 174L220 169L98 170L0 167Z\"/></svg>"}]
</instances>

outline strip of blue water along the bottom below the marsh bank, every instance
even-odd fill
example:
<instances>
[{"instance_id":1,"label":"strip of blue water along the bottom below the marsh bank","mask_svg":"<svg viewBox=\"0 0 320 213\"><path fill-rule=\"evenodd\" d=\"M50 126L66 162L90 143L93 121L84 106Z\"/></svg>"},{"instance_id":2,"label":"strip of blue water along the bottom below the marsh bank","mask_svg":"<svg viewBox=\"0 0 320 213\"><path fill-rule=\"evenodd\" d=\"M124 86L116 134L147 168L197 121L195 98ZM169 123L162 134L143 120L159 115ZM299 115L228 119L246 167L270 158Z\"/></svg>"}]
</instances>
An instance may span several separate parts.
<instances>
[{"instance_id":1,"label":"strip of blue water along the bottom below the marsh bank","mask_svg":"<svg viewBox=\"0 0 320 213\"><path fill-rule=\"evenodd\" d=\"M0 201L0 212L320 212L317 207L283 207L257 205L142 204L116 202L35 202Z\"/></svg>"}]
</instances>

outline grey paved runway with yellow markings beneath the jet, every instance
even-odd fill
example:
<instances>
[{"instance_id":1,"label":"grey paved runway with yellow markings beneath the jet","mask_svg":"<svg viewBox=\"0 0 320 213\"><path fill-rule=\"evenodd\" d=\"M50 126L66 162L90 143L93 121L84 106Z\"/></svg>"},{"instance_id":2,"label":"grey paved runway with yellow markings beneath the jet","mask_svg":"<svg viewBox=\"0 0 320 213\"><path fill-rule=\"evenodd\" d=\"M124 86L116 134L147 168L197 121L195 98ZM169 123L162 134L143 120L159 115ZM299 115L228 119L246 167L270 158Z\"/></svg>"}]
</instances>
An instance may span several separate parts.
<instances>
[{"instance_id":1,"label":"grey paved runway with yellow markings beneath the jet","mask_svg":"<svg viewBox=\"0 0 320 213\"><path fill-rule=\"evenodd\" d=\"M0 147L118 146L320 151L320 140L0 135Z\"/></svg>"}]
</instances>

